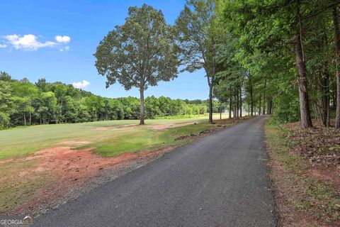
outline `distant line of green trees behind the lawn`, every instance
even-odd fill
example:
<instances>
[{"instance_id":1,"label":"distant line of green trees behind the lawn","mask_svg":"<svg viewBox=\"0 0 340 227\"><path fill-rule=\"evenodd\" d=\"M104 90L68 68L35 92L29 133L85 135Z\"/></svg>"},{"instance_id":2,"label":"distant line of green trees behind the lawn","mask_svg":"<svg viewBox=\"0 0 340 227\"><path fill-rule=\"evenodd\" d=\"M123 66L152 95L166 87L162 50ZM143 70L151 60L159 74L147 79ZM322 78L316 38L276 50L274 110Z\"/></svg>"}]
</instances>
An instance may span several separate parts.
<instances>
[{"instance_id":1,"label":"distant line of green trees behind the lawn","mask_svg":"<svg viewBox=\"0 0 340 227\"><path fill-rule=\"evenodd\" d=\"M181 100L161 96L145 99L145 116L196 115L208 111L208 100ZM218 111L218 104L214 105ZM35 84L12 79L0 72L0 128L49 123L138 119L140 100L135 97L104 98L62 82Z\"/></svg>"}]
</instances>

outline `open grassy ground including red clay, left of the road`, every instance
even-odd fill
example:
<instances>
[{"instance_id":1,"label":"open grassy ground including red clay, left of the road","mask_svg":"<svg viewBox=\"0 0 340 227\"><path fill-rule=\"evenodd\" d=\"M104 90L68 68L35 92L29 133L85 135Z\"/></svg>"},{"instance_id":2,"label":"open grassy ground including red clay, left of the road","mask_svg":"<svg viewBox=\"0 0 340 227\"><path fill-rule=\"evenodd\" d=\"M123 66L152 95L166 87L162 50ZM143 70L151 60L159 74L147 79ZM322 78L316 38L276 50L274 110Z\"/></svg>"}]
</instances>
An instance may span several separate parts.
<instances>
[{"instance_id":1,"label":"open grassy ground including red clay, left of the road","mask_svg":"<svg viewBox=\"0 0 340 227\"><path fill-rule=\"evenodd\" d=\"M214 118L220 116L216 114ZM219 124L232 125L232 121L216 122L209 124L208 117L204 116L147 120L145 126L139 126L137 120L125 120L27 126L0 131L0 214L30 211L32 207L38 209L40 205L52 206L53 199L46 195L58 199L64 193L78 189L83 182L100 175L98 171L103 169L102 165L106 165L105 160L114 166L113 156L183 145L196 137L176 138L198 135L200 131L215 128ZM63 149L68 151L69 148L49 150L45 153L47 156L41 153L41 156L33 156L33 153L44 148L56 147L72 147L72 153L81 156L74 158L72 153L62 153ZM77 150L82 148L95 148L91 152L100 156ZM64 156L58 156L58 153ZM98 162L96 158L101 160ZM67 191L66 186L70 191Z\"/></svg>"}]
</instances>

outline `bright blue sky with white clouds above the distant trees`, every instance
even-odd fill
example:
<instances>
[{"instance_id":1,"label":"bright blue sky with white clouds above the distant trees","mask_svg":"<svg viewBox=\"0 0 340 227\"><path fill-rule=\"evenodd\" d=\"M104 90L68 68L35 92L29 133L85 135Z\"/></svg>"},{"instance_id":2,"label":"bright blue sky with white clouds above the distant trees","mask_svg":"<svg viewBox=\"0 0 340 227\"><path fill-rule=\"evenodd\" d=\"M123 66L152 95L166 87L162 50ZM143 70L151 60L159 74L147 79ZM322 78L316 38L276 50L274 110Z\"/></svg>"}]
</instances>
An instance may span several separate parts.
<instances>
[{"instance_id":1,"label":"bright blue sky with white clouds above the distant trees","mask_svg":"<svg viewBox=\"0 0 340 227\"><path fill-rule=\"evenodd\" d=\"M120 84L105 88L106 78L94 67L99 41L122 25L129 6L143 3L161 9L173 24L184 0L141 1L0 1L0 70L15 79L67 84L80 82L87 91L106 97L139 96L137 89L125 91ZM146 96L176 99L207 99L208 84L203 70L184 72L171 82L149 87ZM83 81L86 81L83 83Z\"/></svg>"}]
</instances>

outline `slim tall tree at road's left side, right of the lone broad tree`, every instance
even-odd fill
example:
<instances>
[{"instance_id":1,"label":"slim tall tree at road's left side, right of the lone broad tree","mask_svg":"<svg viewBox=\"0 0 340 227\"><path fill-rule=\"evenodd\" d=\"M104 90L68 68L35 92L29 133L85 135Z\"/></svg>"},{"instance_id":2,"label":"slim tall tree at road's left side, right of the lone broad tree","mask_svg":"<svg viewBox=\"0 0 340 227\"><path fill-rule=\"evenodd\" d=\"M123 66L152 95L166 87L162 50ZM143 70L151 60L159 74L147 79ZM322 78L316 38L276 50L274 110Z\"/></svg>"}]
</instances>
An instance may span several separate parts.
<instances>
[{"instance_id":1,"label":"slim tall tree at road's left side, right of the lone broad tree","mask_svg":"<svg viewBox=\"0 0 340 227\"><path fill-rule=\"evenodd\" d=\"M213 0L188 0L176 19L182 71L203 68L209 86L209 122L212 123L212 90L217 69L217 43L220 35Z\"/></svg>"}]
</instances>

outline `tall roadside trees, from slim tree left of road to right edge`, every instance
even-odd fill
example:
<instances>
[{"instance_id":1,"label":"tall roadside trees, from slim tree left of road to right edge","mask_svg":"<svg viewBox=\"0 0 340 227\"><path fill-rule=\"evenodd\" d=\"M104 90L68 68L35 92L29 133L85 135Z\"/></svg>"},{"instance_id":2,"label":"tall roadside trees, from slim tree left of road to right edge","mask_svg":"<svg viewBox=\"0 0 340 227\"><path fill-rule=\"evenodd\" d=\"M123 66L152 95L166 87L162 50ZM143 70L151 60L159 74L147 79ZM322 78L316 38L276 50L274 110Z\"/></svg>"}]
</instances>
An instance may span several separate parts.
<instances>
[{"instance_id":1,"label":"tall roadside trees, from slim tree left of road to right edge","mask_svg":"<svg viewBox=\"0 0 340 227\"><path fill-rule=\"evenodd\" d=\"M188 0L174 25L179 62L203 68L234 117L340 128L339 1ZM212 121L212 118L210 118Z\"/></svg>"}]
</instances>

